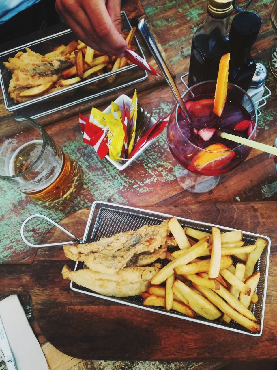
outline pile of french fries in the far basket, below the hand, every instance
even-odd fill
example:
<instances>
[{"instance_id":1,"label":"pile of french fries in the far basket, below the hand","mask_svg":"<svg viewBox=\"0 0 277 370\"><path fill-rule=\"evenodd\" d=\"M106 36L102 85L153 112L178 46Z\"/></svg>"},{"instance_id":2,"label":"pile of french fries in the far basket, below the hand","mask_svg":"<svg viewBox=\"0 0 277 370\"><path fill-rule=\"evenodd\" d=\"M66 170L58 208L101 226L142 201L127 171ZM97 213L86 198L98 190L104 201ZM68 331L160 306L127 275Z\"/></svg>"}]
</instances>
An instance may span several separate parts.
<instances>
[{"instance_id":1,"label":"pile of french fries in the far basket, below the hand","mask_svg":"<svg viewBox=\"0 0 277 370\"><path fill-rule=\"evenodd\" d=\"M123 38L126 40L128 47L133 51L137 49L136 46L132 45L135 31L136 27L133 27L130 32L122 31ZM61 72L62 79L58 81L61 87L73 85L81 80L100 76L125 67L127 64L132 64L125 57L117 58L115 55L99 53L80 40L71 41L67 46L61 45L51 51L51 53L45 54L45 57L52 58L68 54L75 58L75 65Z\"/></svg>"}]
</instances>

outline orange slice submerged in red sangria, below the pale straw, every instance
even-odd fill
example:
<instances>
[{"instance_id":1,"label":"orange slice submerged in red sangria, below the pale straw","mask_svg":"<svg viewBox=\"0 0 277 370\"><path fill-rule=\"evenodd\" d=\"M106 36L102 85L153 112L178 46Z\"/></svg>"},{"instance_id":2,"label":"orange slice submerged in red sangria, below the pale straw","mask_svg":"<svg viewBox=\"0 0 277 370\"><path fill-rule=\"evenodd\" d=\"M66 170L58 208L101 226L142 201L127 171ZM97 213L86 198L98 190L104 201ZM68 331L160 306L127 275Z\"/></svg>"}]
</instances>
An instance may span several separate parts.
<instances>
[{"instance_id":1,"label":"orange slice submerged in red sangria, below the pale straw","mask_svg":"<svg viewBox=\"0 0 277 370\"><path fill-rule=\"evenodd\" d=\"M210 171L227 166L235 155L233 150L222 143L211 144L205 149L218 153L201 151L195 155L189 164L189 167L197 169L204 175L212 175ZM190 169L189 167L188 169Z\"/></svg>"}]
</instances>

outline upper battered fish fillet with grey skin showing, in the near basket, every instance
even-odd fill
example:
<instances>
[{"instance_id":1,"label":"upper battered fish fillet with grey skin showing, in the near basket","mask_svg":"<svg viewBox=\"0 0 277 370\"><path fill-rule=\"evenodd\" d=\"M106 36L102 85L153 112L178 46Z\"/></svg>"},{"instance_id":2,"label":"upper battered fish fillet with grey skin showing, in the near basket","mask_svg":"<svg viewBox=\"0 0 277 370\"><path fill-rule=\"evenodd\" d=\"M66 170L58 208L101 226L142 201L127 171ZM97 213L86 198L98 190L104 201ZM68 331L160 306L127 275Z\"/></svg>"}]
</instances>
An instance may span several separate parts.
<instances>
[{"instance_id":1,"label":"upper battered fish fillet with grey skin showing, in the near basket","mask_svg":"<svg viewBox=\"0 0 277 370\"><path fill-rule=\"evenodd\" d=\"M98 242L63 248L66 257L85 262L93 271L110 274L126 266L149 265L164 255L169 232L166 220L160 225L144 225L137 231L118 233Z\"/></svg>"}]
</instances>

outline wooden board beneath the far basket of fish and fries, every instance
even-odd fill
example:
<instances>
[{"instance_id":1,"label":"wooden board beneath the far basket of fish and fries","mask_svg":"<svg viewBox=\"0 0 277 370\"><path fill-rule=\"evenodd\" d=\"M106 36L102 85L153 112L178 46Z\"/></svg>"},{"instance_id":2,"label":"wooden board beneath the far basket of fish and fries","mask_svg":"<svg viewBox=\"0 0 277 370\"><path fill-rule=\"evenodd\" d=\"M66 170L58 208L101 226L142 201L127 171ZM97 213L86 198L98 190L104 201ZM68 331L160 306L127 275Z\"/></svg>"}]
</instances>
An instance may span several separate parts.
<instances>
[{"instance_id":1,"label":"wooden board beneath the far basket of fish and fries","mask_svg":"<svg viewBox=\"0 0 277 370\"><path fill-rule=\"evenodd\" d=\"M148 22L148 26L150 27L150 29L152 31L151 24L148 21L148 18L147 18L146 13L143 9L143 6L140 3L140 0L127 1L123 5L122 10L126 11L126 14L129 18L130 23L131 23L132 26L136 26L138 20L140 20L141 18L145 18ZM53 30L52 33L51 33L51 28L53 29L54 27L55 27L55 31ZM64 30L64 26L62 24L59 24L59 25L54 26L54 27L49 27L50 30L46 29L46 30L38 31L34 34L31 34L30 36L28 36L27 39L26 39L26 37L24 37L24 38L14 40L14 41L12 41L12 43L8 43L6 48L5 48L5 46L0 46L1 47L0 51L9 50L13 47L18 47L18 46L21 46L23 44L26 44L27 42L30 42L32 40L37 40L39 38L46 37L46 36L48 36L49 32L50 32L50 34L53 34L53 33L55 34L58 31ZM174 71L173 71L173 69L172 69L172 67L171 67L171 65L170 65L170 63L167 59L167 56L164 53L164 50L163 50L161 44L159 43L159 41L157 40L157 37L154 34L153 34L153 36L154 36L154 38L157 42L157 45L158 45L158 47L159 47L159 49L160 49L160 51L161 51L161 53L164 57L165 62L168 65L168 68L169 68L169 70L172 74L172 77L175 78L175 73L174 73ZM155 60L152 57L152 55L150 54L150 52L149 52L147 46L145 45L142 37L140 36L139 31L136 32L136 37L138 38L138 42L139 42L140 46L143 48L143 53L146 57L147 62L153 68L158 70L157 64L155 63ZM90 100L84 101L84 102L76 104L76 105L72 105L71 107L67 107L67 108L64 108L62 110L58 110L57 112L53 112L51 114L48 114L48 115L45 115L43 117L37 118L37 121L42 126L45 126L45 125L48 125L50 123L61 120L61 118L71 117L74 114L78 114L79 112L83 113L84 111L87 111L87 110L90 111L92 107L99 107L100 105L103 105L103 104L109 105L111 101L115 100L117 97L119 97L122 94L133 96L135 89L137 89L137 91L143 91L143 90L148 90L150 88L153 88L153 87L161 85L161 84L165 84L164 78L156 77L156 76L153 76L150 73L148 73L147 80L134 83L134 84L126 86L124 88L120 88L118 90L109 92L108 94L103 94L99 97L92 98ZM43 104L43 102L42 102L42 104ZM6 108L4 106L4 100L3 100L2 94L0 92L0 118L10 116L12 114L13 114L13 112L6 110Z\"/></svg>"}]
</instances>

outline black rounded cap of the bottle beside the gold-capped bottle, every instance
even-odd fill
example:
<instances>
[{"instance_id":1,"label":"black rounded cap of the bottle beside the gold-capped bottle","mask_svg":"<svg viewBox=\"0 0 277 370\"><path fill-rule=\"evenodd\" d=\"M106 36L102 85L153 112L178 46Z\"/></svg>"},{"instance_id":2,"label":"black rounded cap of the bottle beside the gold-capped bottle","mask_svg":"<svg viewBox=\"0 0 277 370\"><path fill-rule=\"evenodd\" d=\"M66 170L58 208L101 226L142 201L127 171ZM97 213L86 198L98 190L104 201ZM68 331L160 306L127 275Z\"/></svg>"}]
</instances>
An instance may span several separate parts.
<instances>
[{"instance_id":1,"label":"black rounded cap of the bottle beside the gold-capped bottle","mask_svg":"<svg viewBox=\"0 0 277 370\"><path fill-rule=\"evenodd\" d=\"M229 40L239 46L248 47L254 44L261 28L260 17L251 11L242 11L232 21Z\"/></svg>"}]
</instances>

